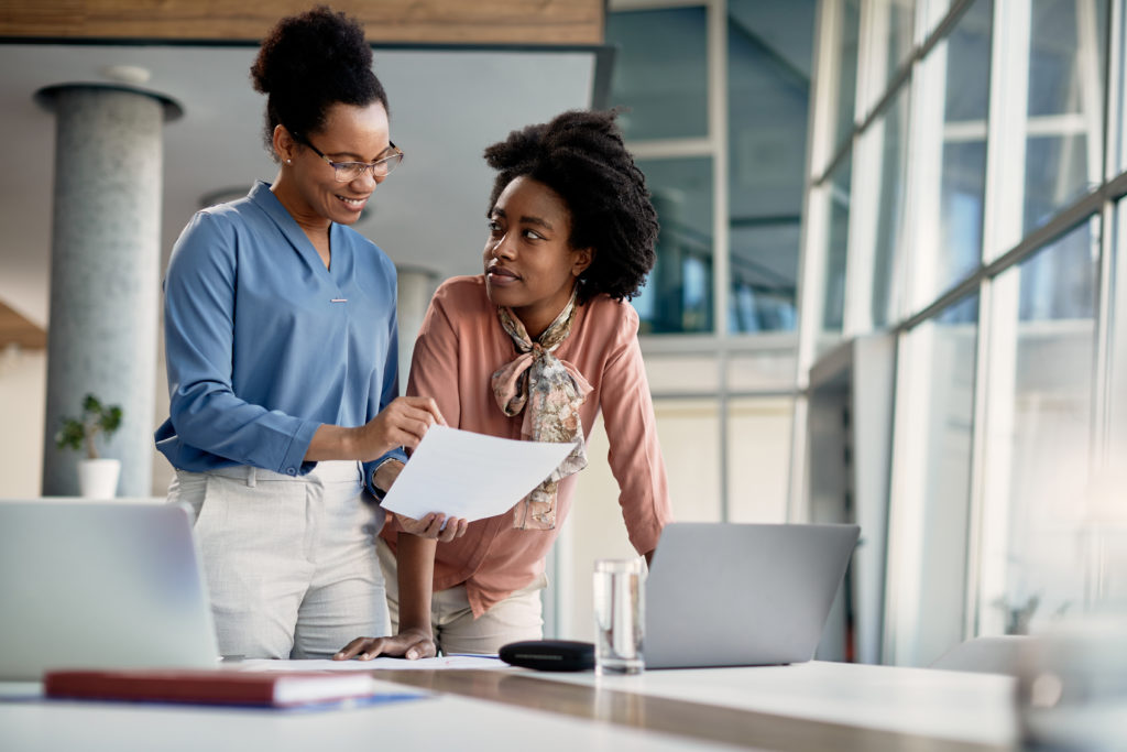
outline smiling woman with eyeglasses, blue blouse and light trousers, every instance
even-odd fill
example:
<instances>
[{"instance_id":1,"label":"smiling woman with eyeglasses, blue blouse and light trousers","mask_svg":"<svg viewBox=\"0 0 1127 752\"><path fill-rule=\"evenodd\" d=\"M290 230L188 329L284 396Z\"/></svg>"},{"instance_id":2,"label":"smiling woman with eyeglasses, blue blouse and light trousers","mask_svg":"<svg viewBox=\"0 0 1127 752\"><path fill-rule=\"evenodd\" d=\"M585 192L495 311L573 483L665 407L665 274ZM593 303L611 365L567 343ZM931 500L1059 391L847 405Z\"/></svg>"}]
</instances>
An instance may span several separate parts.
<instances>
[{"instance_id":1,"label":"smiling woman with eyeglasses, blue blouse and light trousers","mask_svg":"<svg viewBox=\"0 0 1127 752\"><path fill-rule=\"evenodd\" d=\"M251 78L278 172L198 212L176 244L156 440L176 468L169 499L196 515L221 652L326 657L389 634L373 496L443 417L397 398L396 269L348 227L403 156L363 28L325 7L284 18ZM434 655L429 613L405 613L373 649Z\"/></svg>"}]
</instances>

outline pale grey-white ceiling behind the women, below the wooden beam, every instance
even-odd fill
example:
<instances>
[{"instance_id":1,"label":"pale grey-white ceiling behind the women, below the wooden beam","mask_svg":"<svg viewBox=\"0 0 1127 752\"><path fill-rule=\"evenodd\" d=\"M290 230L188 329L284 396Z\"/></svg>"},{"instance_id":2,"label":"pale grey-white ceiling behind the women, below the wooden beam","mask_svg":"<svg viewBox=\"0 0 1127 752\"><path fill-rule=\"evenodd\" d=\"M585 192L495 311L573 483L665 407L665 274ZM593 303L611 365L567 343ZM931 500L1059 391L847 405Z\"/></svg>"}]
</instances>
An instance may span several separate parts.
<instances>
[{"instance_id":1,"label":"pale grey-white ceiling behind the women, below the wooden beam","mask_svg":"<svg viewBox=\"0 0 1127 752\"><path fill-rule=\"evenodd\" d=\"M112 82L110 65L151 72L144 88L177 100L166 124L161 254L201 206L269 180L261 145L265 99L250 86L252 46L0 45L0 301L46 326L54 115L45 86ZM491 171L482 149L511 130L588 107L594 50L376 50L403 165L355 227L400 267L445 277L479 271ZM65 154L61 157L65 158Z\"/></svg>"}]
</instances>

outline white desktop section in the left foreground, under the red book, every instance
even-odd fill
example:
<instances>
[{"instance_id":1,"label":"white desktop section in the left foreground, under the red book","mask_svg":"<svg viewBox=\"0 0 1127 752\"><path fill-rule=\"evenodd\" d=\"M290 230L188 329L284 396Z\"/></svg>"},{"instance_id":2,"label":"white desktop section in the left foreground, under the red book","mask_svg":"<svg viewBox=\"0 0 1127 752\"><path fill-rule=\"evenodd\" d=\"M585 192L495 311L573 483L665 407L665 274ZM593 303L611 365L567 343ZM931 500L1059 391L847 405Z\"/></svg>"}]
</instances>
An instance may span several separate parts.
<instances>
[{"instance_id":1,"label":"white desktop section in the left foreground, under the red book","mask_svg":"<svg viewBox=\"0 0 1127 752\"><path fill-rule=\"evenodd\" d=\"M717 744L456 696L373 707L234 710L124 702L2 702L5 752L687 752Z\"/></svg>"}]
</instances>

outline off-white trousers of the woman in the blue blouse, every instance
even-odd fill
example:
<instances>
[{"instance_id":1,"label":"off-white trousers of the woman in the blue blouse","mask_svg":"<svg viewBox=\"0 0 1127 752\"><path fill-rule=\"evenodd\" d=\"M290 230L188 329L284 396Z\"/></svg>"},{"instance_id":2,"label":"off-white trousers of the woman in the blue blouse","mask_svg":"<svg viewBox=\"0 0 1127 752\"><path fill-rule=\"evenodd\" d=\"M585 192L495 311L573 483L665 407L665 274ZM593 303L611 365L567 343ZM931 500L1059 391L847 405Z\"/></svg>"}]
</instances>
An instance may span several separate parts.
<instances>
[{"instance_id":1,"label":"off-white trousers of the woman in the blue blouse","mask_svg":"<svg viewBox=\"0 0 1127 752\"><path fill-rule=\"evenodd\" d=\"M296 477L177 470L168 498L195 512L223 655L323 658L390 634L372 543L383 510L365 502L362 472L346 461Z\"/></svg>"}]
</instances>

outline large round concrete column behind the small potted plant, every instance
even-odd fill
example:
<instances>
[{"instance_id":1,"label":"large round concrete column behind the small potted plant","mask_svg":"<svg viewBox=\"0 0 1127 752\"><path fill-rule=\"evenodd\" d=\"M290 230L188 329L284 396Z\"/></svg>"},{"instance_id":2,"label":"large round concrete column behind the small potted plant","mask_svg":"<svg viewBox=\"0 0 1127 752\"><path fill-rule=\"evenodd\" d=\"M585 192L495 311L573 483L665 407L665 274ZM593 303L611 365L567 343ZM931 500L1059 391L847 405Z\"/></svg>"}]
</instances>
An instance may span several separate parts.
<instances>
[{"instance_id":1,"label":"large round concrete column behind the small potted plant","mask_svg":"<svg viewBox=\"0 0 1127 752\"><path fill-rule=\"evenodd\" d=\"M121 405L103 457L122 461L119 496L151 495L160 293L161 127L168 99L65 85L37 100L56 114L43 494L78 494L80 454L55 448L87 393Z\"/></svg>"}]
</instances>

